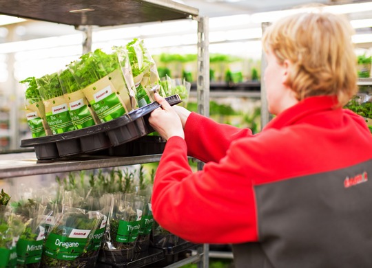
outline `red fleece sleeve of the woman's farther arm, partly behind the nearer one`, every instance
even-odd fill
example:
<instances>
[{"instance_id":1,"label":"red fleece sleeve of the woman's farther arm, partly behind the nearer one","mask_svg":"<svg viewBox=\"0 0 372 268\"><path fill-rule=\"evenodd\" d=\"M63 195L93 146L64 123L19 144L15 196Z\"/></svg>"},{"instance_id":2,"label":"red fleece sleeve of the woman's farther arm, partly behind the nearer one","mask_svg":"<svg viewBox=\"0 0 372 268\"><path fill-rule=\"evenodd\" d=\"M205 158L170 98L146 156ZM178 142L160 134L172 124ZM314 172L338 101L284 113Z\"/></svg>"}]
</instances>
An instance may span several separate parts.
<instances>
[{"instance_id":1,"label":"red fleece sleeve of the woman's farther arm, partly behind the nearer one","mask_svg":"<svg viewBox=\"0 0 372 268\"><path fill-rule=\"evenodd\" d=\"M185 125L187 154L207 163L225 157L232 141L252 135L250 129L218 124L198 113L191 113Z\"/></svg>"}]
</instances>

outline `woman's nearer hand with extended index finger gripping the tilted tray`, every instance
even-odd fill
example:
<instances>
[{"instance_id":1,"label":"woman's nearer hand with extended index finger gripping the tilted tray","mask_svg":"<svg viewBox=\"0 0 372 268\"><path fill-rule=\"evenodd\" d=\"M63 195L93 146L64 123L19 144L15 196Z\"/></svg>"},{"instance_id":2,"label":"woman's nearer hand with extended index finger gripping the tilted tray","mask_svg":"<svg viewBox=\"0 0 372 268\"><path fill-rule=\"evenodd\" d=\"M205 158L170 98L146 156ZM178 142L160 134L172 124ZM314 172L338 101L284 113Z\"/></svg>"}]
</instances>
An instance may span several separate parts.
<instances>
[{"instance_id":1,"label":"woman's nearer hand with extended index finger gripping the tilted tray","mask_svg":"<svg viewBox=\"0 0 372 268\"><path fill-rule=\"evenodd\" d=\"M185 139L183 124L176 111L169 105L167 100L158 93L155 93L154 96L156 102L161 104L161 107L152 111L149 117L149 124L163 137L163 139L168 140L173 136L179 136Z\"/></svg>"}]
</instances>

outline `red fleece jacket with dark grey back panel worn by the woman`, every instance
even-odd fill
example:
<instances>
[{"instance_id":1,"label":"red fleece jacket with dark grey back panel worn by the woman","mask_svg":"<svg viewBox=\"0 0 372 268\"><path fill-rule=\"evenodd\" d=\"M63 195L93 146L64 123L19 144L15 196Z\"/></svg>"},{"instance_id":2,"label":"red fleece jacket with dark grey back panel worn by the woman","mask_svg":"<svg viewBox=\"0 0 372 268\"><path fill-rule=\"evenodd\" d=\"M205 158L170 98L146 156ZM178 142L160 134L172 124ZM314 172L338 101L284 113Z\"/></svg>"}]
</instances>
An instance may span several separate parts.
<instances>
[{"instance_id":1,"label":"red fleece jacket with dark grey back panel worn by the woman","mask_svg":"<svg viewBox=\"0 0 372 268\"><path fill-rule=\"evenodd\" d=\"M360 116L333 104L307 98L256 135L192 113L185 140L167 141L156 171L154 219L195 243L258 241L271 263L301 243L330 247L317 245L320 235L356 228L372 267L372 135ZM192 172L187 155L203 170ZM349 226L337 229L345 219ZM355 245L349 237L341 253L347 245Z\"/></svg>"}]
</instances>

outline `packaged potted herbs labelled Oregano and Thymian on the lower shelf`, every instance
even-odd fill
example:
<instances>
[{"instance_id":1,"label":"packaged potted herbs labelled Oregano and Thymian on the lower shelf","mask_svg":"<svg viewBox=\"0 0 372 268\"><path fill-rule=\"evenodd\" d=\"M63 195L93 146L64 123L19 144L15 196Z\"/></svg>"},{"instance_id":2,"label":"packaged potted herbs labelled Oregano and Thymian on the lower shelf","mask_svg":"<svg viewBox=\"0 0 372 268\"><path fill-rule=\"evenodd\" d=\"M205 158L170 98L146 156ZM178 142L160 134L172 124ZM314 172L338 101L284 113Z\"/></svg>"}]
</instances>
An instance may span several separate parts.
<instances>
[{"instance_id":1,"label":"packaged potted herbs labelled Oregano and Thymian on the lower shelf","mask_svg":"<svg viewBox=\"0 0 372 268\"><path fill-rule=\"evenodd\" d=\"M123 265L169 237L174 245L152 217L153 178L143 166L110 168L57 176L18 200L1 190L0 267Z\"/></svg>"}]
</instances>

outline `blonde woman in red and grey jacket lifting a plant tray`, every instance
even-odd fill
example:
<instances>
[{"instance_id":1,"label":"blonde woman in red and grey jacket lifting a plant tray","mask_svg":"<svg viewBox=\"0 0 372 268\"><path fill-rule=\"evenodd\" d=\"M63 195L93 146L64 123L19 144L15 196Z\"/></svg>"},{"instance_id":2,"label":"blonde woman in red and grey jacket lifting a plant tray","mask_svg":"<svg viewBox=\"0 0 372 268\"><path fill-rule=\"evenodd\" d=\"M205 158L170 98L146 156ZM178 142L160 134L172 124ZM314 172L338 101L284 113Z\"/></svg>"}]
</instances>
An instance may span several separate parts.
<instances>
[{"instance_id":1,"label":"blonde woman in red and grey jacket lifting a plant tray","mask_svg":"<svg viewBox=\"0 0 372 268\"><path fill-rule=\"evenodd\" d=\"M154 219L194 243L233 244L236 267L372 267L372 135L342 109L357 92L347 19L301 13L264 33L269 111L258 134L181 107L150 124L167 144ZM206 164L192 172L187 155Z\"/></svg>"}]
</instances>

